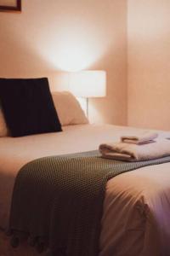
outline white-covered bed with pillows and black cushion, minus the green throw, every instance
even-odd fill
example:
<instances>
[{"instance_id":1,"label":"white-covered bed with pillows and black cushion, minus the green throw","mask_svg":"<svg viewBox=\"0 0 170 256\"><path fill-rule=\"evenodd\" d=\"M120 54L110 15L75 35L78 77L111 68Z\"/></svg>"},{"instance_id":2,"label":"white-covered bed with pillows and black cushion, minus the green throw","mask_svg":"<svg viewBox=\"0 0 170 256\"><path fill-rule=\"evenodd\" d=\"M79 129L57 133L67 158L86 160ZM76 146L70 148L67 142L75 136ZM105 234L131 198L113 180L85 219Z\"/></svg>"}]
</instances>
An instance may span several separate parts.
<instances>
[{"instance_id":1,"label":"white-covered bed with pillows and black cushion, minus the green throw","mask_svg":"<svg viewBox=\"0 0 170 256\"><path fill-rule=\"evenodd\" d=\"M0 256L39 255L26 242L12 248L5 234L22 166L42 157L96 150L101 143L141 131L91 125L70 93L52 96L46 78L0 79ZM157 132L159 137L170 137L168 132ZM99 256L169 256L169 212L170 163L111 178L105 188Z\"/></svg>"}]
</instances>

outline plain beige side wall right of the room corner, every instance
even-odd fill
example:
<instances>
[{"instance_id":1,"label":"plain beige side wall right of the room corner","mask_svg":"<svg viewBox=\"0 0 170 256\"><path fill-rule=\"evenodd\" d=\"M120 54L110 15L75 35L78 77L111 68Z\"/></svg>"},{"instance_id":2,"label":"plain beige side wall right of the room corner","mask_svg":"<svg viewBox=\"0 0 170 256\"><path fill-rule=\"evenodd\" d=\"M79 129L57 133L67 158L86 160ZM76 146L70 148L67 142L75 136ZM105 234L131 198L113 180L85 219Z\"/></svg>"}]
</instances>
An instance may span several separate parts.
<instances>
[{"instance_id":1,"label":"plain beige side wall right of the room corner","mask_svg":"<svg viewBox=\"0 0 170 256\"><path fill-rule=\"evenodd\" d=\"M170 1L128 1L128 125L170 130Z\"/></svg>"}]
</instances>

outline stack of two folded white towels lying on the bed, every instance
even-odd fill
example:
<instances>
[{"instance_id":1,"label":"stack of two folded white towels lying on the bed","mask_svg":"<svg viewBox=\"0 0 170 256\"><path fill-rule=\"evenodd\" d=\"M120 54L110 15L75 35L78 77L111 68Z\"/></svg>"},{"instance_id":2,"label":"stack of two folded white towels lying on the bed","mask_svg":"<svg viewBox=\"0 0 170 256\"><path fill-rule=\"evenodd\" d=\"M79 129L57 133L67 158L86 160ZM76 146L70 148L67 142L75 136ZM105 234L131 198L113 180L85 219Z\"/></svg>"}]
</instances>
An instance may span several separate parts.
<instances>
[{"instance_id":1,"label":"stack of two folded white towels lying on the bed","mask_svg":"<svg viewBox=\"0 0 170 256\"><path fill-rule=\"evenodd\" d=\"M170 141L154 139L156 133L141 137L122 137L120 143L104 143L99 146L102 157L114 160L142 161L170 155ZM155 142L155 143L154 143Z\"/></svg>"}]
</instances>

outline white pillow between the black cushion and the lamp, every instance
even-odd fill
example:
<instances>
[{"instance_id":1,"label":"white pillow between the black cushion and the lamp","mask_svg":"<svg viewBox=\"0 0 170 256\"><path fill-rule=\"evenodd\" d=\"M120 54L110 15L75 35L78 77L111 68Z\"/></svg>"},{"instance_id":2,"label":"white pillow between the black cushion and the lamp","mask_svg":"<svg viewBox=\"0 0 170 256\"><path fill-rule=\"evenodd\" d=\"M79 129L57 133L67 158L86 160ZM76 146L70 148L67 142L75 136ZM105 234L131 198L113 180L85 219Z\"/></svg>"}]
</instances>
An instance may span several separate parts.
<instances>
[{"instance_id":1,"label":"white pillow between the black cushion and the lamp","mask_svg":"<svg viewBox=\"0 0 170 256\"><path fill-rule=\"evenodd\" d=\"M88 124L88 119L83 112L77 98L69 91L52 92L54 106L59 115L61 125Z\"/></svg>"}]
</instances>

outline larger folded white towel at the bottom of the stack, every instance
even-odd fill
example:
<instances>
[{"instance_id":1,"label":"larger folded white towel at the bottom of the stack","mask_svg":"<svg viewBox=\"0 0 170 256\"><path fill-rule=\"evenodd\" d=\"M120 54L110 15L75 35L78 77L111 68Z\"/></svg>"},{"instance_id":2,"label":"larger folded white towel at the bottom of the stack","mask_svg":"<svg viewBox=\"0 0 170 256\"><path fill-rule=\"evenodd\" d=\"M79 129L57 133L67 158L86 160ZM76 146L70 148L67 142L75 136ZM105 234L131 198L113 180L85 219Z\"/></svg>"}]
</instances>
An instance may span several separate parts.
<instances>
[{"instance_id":1,"label":"larger folded white towel at the bottom of the stack","mask_svg":"<svg viewBox=\"0 0 170 256\"><path fill-rule=\"evenodd\" d=\"M99 146L99 151L103 157L115 160L153 160L170 155L170 141L159 139L155 143L143 145L105 143Z\"/></svg>"}]
</instances>

